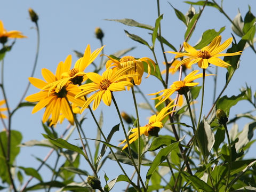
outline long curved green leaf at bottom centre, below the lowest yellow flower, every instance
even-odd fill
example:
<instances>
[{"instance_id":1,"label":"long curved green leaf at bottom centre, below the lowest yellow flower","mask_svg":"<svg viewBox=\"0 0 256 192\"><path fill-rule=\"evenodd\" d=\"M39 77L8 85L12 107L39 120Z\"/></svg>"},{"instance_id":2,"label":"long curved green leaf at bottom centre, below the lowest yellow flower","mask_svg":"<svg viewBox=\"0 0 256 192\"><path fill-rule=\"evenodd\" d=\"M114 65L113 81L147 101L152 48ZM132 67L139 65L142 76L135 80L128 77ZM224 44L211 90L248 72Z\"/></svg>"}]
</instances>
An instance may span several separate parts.
<instances>
[{"instance_id":1,"label":"long curved green leaf at bottom centre, below the lowest yellow flower","mask_svg":"<svg viewBox=\"0 0 256 192\"><path fill-rule=\"evenodd\" d=\"M179 146L180 142L175 142L172 143L171 145L161 149L158 154L156 155L153 163L151 164L151 166L149 167L149 170L147 172L146 175L146 183L148 185L148 182L152 176L152 174L155 172L155 170L157 169L157 167L163 162L165 161L167 155L169 155L169 153L171 153L171 151L175 148L177 148Z\"/></svg>"}]
</instances>

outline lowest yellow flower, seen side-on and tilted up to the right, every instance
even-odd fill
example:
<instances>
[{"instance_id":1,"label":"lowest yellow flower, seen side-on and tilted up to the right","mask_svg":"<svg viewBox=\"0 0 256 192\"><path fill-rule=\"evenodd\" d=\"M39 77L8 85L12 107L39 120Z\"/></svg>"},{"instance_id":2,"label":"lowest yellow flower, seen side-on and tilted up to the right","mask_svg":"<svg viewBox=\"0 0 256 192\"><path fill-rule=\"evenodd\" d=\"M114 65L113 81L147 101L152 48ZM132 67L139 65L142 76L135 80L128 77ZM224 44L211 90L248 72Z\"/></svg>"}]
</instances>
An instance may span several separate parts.
<instances>
[{"instance_id":1,"label":"lowest yellow flower, seen side-on and tilted up to the right","mask_svg":"<svg viewBox=\"0 0 256 192\"><path fill-rule=\"evenodd\" d=\"M163 128L163 119L175 112L174 110L169 111L171 108L173 108L176 105L172 105L173 101L169 103L167 107L164 107L157 115L153 115L149 118L149 122L145 126L140 127L140 135L144 134L146 136L158 136L158 132L161 128ZM169 111L169 112L168 112ZM129 135L129 143L136 141L139 138L139 131L138 127L131 130L132 134ZM124 142L126 142L126 139L123 140L119 145L122 145ZM127 143L122 149L125 149L127 147Z\"/></svg>"}]
</instances>

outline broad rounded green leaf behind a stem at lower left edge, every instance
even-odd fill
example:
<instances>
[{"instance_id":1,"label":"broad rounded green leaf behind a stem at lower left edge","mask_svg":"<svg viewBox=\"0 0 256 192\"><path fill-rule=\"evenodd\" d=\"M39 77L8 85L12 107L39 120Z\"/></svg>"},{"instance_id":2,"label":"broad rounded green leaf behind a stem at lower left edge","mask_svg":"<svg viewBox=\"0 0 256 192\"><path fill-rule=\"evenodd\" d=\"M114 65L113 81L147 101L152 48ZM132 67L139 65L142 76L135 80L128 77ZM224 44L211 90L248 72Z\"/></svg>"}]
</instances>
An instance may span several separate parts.
<instances>
[{"instance_id":1,"label":"broad rounded green leaf behind a stem at lower left edge","mask_svg":"<svg viewBox=\"0 0 256 192\"><path fill-rule=\"evenodd\" d=\"M20 153L20 143L22 140L22 134L19 131L14 131L12 130L10 132L11 134L11 143L10 143L10 165L13 164L13 162L15 161L15 158L17 157L17 155ZM2 146L4 148L5 151L0 150L0 178L2 178L2 183L11 183L10 179L9 179L9 174L7 172L7 166L6 166L6 162L5 162L5 155L6 153L6 149L7 149L7 135L6 135L6 131L2 131L0 132L0 141L2 142Z\"/></svg>"}]
</instances>

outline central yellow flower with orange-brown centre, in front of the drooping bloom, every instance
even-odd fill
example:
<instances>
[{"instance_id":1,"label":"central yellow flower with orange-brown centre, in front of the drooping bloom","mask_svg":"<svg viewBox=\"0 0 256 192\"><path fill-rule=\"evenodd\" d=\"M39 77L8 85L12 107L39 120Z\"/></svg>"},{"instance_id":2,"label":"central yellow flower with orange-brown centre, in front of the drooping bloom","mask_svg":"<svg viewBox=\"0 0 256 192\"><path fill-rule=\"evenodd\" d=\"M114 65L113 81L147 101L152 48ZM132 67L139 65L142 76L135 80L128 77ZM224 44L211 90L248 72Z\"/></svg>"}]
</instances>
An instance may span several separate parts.
<instances>
[{"instance_id":1,"label":"central yellow flower with orange-brown centre, in front of the drooping bloom","mask_svg":"<svg viewBox=\"0 0 256 192\"><path fill-rule=\"evenodd\" d=\"M91 97L87 98L81 109L81 113L93 100L93 110L97 109L97 107L100 105L101 99L107 106L110 106L112 91L125 91L125 86L132 87L133 84L131 82L120 81L121 79L134 76L131 74L126 75L127 71L131 70L132 68L133 66L130 66L115 71L113 69L107 69L103 72L102 76L97 73L87 73L86 76L91 79L93 83L87 83L79 86L79 89L82 91L76 95L76 98L83 97L84 95L93 91L97 92L92 94Z\"/></svg>"}]
</instances>

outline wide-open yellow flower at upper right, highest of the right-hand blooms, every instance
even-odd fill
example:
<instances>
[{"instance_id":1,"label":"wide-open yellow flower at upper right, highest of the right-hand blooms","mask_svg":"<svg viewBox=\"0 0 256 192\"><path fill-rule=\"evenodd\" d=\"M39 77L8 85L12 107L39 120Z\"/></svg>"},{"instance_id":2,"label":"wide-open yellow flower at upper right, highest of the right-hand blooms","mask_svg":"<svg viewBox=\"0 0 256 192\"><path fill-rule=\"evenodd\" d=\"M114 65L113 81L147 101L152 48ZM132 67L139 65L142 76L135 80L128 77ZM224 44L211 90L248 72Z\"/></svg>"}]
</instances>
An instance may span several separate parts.
<instances>
[{"instance_id":1,"label":"wide-open yellow flower at upper right, highest of the right-hand blooms","mask_svg":"<svg viewBox=\"0 0 256 192\"><path fill-rule=\"evenodd\" d=\"M218 57L242 54L242 51L238 51L235 53L220 53L227 49L227 47L232 43L232 40L233 38L231 37L227 39L224 43L220 44L221 36L219 35L212 40L210 45L203 47L199 51L197 51L194 47L190 46L188 43L184 42L183 46L187 53L179 53L174 51L167 51L167 53L177 54L175 58L179 58L182 56L186 57L177 66L175 66L175 71L186 62L189 62L189 67L195 63L198 63L198 66L202 69L206 69L209 66L209 63L215 66L227 68L230 65Z\"/></svg>"}]
</instances>

